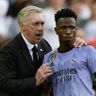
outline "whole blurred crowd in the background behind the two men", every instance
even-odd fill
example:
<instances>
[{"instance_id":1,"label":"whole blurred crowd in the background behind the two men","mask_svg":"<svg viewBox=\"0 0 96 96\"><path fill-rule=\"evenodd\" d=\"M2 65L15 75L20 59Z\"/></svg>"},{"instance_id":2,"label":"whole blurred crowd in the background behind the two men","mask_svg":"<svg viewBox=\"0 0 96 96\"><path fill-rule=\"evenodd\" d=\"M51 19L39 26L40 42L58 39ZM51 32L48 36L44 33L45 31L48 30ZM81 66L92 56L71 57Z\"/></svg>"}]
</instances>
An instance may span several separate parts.
<instances>
[{"instance_id":1,"label":"whole blurred crowd in the background behind the two men","mask_svg":"<svg viewBox=\"0 0 96 96\"><path fill-rule=\"evenodd\" d=\"M18 12L27 5L43 8L45 15L44 38L52 49L59 46L55 33L54 14L61 8L72 8L78 15L77 36L96 48L96 0L0 0L0 46L19 33Z\"/></svg>"}]
</instances>

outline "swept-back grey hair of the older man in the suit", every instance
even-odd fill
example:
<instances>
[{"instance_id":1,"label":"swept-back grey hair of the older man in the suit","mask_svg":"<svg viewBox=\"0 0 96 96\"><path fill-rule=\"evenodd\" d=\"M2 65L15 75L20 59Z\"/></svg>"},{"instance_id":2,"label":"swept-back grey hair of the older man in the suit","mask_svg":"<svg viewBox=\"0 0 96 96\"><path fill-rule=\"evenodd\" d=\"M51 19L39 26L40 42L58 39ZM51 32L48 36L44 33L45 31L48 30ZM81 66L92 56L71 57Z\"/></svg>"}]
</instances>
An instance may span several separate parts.
<instances>
[{"instance_id":1,"label":"swept-back grey hair of the older man in the suit","mask_svg":"<svg viewBox=\"0 0 96 96\"><path fill-rule=\"evenodd\" d=\"M24 7L17 15L17 20L19 25L22 25L23 23L25 23L28 19L28 17L32 14L32 13L43 13L42 9L36 6L27 6Z\"/></svg>"}]
</instances>

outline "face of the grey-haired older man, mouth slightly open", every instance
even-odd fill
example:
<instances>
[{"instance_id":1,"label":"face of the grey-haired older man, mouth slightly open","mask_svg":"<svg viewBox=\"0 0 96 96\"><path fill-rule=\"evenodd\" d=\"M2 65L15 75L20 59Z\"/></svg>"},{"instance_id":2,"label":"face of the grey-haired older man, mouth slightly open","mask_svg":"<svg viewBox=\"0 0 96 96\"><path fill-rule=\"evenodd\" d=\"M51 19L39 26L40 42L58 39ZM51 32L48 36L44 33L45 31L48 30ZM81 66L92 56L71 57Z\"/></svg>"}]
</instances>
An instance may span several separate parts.
<instances>
[{"instance_id":1,"label":"face of the grey-haired older man, mouth slightly open","mask_svg":"<svg viewBox=\"0 0 96 96\"><path fill-rule=\"evenodd\" d=\"M22 33L32 43L38 43L43 36L44 16L42 13L32 13L28 21L22 25Z\"/></svg>"}]
</instances>

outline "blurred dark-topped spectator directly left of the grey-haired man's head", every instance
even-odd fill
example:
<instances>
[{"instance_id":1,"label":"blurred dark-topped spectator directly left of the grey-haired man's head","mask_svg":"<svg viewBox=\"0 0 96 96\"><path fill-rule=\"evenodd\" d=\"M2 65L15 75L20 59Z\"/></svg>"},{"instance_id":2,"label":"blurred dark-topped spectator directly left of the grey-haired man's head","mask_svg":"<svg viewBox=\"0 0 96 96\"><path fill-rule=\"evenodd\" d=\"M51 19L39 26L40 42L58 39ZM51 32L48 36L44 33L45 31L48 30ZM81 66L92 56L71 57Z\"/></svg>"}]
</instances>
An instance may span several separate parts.
<instances>
[{"instance_id":1,"label":"blurred dark-topped spectator directly left of the grey-haired man's head","mask_svg":"<svg viewBox=\"0 0 96 96\"><path fill-rule=\"evenodd\" d=\"M7 12L8 16L8 24L10 25L9 27L9 38L14 38L17 33L20 31L18 23L17 23L17 14L18 12L24 8L27 5L32 4L32 0L9 0L10 5L9 9Z\"/></svg>"}]
</instances>

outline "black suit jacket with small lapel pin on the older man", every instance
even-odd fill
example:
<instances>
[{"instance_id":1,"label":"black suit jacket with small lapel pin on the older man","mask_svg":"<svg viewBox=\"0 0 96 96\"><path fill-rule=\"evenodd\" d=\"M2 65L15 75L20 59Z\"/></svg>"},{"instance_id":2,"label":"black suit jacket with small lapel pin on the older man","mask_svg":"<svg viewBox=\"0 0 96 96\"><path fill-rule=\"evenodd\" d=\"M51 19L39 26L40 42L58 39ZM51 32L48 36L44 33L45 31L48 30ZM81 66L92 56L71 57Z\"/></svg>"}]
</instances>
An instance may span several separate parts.
<instances>
[{"instance_id":1,"label":"black suit jacket with small lapel pin on the older man","mask_svg":"<svg viewBox=\"0 0 96 96\"><path fill-rule=\"evenodd\" d=\"M42 85L36 87L35 73L44 54L51 51L42 39L38 44L40 62L34 67L28 48L21 35L0 50L0 96L40 96Z\"/></svg>"}]
</instances>

